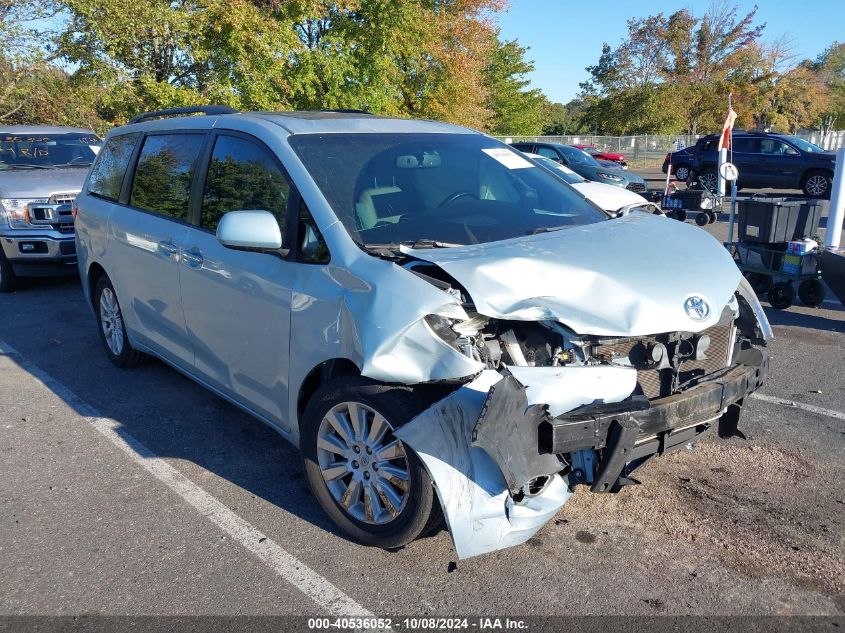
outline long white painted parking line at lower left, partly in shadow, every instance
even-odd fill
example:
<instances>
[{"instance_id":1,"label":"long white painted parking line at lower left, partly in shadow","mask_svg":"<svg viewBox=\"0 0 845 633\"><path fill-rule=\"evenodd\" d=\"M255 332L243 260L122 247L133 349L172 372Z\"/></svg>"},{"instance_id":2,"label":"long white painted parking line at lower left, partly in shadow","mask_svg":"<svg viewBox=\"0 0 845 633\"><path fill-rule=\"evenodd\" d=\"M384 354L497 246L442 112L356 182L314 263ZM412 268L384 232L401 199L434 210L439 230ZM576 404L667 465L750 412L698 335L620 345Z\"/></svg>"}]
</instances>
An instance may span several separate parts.
<instances>
[{"instance_id":1,"label":"long white painted parking line at lower left, partly in shadow","mask_svg":"<svg viewBox=\"0 0 845 633\"><path fill-rule=\"evenodd\" d=\"M308 596L318 606L334 615L372 617L371 612L232 512L164 459L158 457L123 429L119 423L103 417L94 407L50 375L41 371L2 340L0 340L0 355L11 358L36 381L70 404L79 412L82 419L89 422L112 444L129 455L135 463L143 467L153 477L198 510L200 514L261 559L267 567Z\"/></svg>"}]
</instances>

